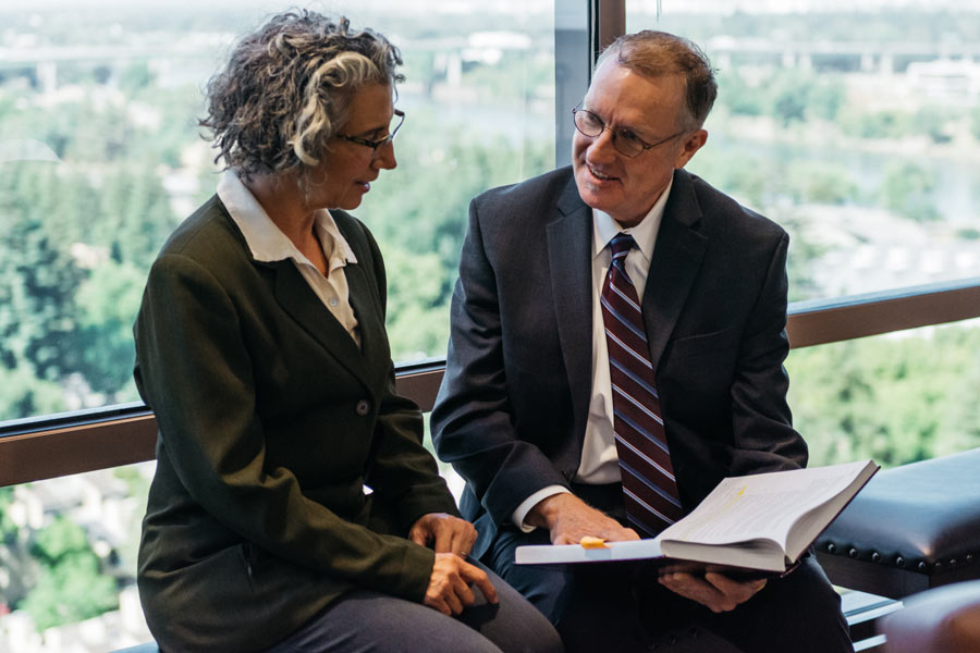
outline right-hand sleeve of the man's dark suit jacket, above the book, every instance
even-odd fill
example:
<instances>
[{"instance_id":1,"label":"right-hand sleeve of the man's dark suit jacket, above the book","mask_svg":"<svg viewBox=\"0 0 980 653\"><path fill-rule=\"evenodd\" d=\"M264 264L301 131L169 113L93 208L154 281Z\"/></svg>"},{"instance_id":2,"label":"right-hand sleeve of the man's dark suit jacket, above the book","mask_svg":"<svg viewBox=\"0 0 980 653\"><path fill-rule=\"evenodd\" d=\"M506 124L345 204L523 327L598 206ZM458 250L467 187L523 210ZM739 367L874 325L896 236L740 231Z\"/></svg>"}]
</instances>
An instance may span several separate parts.
<instances>
[{"instance_id":1,"label":"right-hand sleeve of the man's dark suit jacket, above the book","mask_svg":"<svg viewBox=\"0 0 980 653\"><path fill-rule=\"evenodd\" d=\"M730 476L805 467L807 445L786 402L786 252L781 235L772 249L759 297L749 313L732 381L733 448Z\"/></svg>"}]
</instances>

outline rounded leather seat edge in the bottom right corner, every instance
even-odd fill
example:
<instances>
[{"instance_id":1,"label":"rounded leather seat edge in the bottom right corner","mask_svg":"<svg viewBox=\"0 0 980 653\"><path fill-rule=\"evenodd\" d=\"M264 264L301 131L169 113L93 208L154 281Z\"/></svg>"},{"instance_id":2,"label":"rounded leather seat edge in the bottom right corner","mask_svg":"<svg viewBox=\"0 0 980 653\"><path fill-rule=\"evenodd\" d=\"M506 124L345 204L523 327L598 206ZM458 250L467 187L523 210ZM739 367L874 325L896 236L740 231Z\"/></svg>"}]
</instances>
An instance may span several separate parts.
<instances>
[{"instance_id":1,"label":"rounded leather seat edge in the bottom right corner","mask_svg":"<svg viewBox=\"0 0 980 653\"><path fill-rule=\"evenodd\" d=\"M980 652L980 580L915 594L885 617L886 653Z\"/></svg>"}]
</instances>

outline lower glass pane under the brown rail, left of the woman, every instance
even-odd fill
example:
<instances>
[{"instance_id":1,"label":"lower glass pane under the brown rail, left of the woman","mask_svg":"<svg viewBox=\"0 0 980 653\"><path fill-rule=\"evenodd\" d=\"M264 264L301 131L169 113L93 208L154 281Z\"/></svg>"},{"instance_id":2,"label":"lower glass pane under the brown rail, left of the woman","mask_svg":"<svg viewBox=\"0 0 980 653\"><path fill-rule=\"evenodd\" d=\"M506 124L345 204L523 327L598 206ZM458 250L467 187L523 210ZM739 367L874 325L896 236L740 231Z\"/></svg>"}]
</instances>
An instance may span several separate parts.
<instances>
[{"instance_id":1,"label":"lower glass pane under the brown rail, left of the woman","mask_svg":"<svg viewBox=\"0 0 980 653\"><path fill-rule=\"evenodd\" d=\"M136 549L154 466L0 488L0 651L150 641Z\"/></svg>"}]
</instances>

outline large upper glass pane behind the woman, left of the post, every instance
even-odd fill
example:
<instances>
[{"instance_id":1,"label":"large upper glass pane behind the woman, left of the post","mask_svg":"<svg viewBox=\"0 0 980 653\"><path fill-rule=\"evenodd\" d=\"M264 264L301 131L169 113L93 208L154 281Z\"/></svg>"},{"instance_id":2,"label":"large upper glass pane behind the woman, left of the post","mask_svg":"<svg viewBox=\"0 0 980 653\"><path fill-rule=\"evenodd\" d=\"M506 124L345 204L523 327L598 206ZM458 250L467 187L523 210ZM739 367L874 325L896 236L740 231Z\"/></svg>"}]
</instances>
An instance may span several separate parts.
<instances>
[{"instance_id":1,"label":"large upper glass pane behind the woman, left of the post","mask_svg":"<svg viewBox=\"0 0 980 653\"><path fill-rule=\"evenodd\" d=\"M237 35L291 7L0 4L0 420L138 398L148 266L217 181L201 88ZM554 160L553 2L330 9L402 49L399 170L355 214L387 259L395 359L442 356L470 197Z\"/></svg>"}]
</instances>

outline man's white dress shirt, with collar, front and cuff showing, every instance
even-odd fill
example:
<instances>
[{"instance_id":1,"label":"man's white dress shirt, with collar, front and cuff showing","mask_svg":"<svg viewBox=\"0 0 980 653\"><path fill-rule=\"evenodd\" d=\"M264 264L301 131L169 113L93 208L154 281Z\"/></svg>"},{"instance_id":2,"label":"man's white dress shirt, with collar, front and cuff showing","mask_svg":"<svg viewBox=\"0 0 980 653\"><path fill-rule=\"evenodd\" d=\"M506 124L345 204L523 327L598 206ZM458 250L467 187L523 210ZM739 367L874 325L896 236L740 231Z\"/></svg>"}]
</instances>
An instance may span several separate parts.
<instances>
[{"instance_id":1,"label":"man's white dress shirt, with collar, front and cuff showing","mask_svg":"<svg viewBox=\"0 0 980 653\"><path fill-rule=\"evenodd\" d=\"M620 232L630 234L636 247L626 255L626 274L636 287L640 303L647 275L650 272L650 260L653 247L660 233L663 220L663 208L666 206L673 178L650 208L639 224L623 229L613 218L603 211L592 209L592 394L589 401L589 415L586 422L585 441L581 445L581 460L575 481L578 483L603 484L620 480L620 459L616 455L616 443L613 438L612 380L609 374L609 350L605 346L605 325L602 321L602 306L599 296L602 284L612 263L612 252L608 245ZM528 496L514 510L513 520L525 532L534 530L524 523L524 519L535 505L543 498L567 492L561 485L542 488Z\"/></svg>"}]
</instances>

